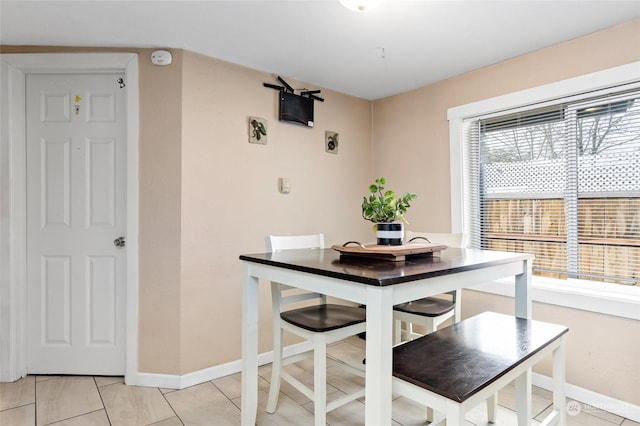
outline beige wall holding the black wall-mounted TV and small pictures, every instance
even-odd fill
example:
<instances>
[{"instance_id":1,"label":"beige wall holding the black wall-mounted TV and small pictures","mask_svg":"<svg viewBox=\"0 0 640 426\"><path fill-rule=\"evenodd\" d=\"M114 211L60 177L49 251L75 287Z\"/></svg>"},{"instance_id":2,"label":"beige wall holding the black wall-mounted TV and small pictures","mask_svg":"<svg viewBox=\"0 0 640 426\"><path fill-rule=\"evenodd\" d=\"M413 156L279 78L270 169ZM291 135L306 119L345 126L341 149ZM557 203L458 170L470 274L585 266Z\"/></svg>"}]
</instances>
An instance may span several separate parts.
<instances>
[{"instance_id":1,"label":"beige wall holding the black wall-mounted TV and small pictures","mask_svg":"<svg viewBox=\"0 0 640 426\"><path fill-rule=\"evenodd\" d=\"M264 252L266 235L322 232L328 245L369 236L360 200L371 176L370 103L323 90L314 128L280 123L278 93L263 82L277 83L184 52L181 373L240 358L238 256ZM248 143L249 116L268 120L267 145ZM340 134L337 155L324 151L326 130ZM278 192L279 177L291 179L290 194ZM270 295L262 290L261 352L271 349Z\"/></svg>"}]
</instances>

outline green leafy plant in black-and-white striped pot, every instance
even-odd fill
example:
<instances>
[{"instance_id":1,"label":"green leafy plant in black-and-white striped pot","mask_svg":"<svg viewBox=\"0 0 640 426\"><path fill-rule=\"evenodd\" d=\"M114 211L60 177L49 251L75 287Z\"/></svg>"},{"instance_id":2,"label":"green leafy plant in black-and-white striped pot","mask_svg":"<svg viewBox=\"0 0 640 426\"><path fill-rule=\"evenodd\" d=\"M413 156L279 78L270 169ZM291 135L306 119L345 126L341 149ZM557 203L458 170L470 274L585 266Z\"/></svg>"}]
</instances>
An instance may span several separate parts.
<instances>
[{"instance_id":1,"label":"green leafy plant in black-and-white striped pot","mask_svg":"<svg viewBox=\"0 0 640 426\"><path fill-rule=\"evenodd\" d=\"M380 177L369 185L369 196L362 200L362 217L375 224L379 245L402 245L404 223L408 223L404 214L411 207L416 194L405 192L402 197L390 189L385 190L386 179Z\"/></svg>"}]
</instances>

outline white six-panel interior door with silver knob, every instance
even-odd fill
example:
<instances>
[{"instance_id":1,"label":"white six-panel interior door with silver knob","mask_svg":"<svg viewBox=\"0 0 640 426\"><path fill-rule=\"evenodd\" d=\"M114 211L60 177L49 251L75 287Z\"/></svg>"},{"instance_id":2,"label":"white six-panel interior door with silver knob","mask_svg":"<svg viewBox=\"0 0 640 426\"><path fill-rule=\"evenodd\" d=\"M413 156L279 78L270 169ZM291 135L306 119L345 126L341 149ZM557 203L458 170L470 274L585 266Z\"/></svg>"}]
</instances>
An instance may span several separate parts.
<instances>
[{"instance_id":1,"label":"white six-panel interior door with silver knob","mask_svg":"<svg viewBox=\"0 0 640 426\"><path fill-rule=\"evenodd\" d=\"M27 75L27 372L126 365L125 84Z\"/></svg>"}]
</instances>

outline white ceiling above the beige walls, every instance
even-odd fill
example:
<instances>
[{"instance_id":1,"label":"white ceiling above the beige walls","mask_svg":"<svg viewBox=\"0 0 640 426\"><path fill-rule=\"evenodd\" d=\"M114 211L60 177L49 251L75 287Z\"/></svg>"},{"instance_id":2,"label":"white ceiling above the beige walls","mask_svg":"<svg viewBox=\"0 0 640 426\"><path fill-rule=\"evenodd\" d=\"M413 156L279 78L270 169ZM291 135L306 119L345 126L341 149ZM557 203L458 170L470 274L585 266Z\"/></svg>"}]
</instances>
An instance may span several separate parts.
<instances>
[{"instance_id":1,"label":"white ceiling above the beige walls","mask_svg":"<svg viewBox=\"0 0 640 426\"><path fill-rule=\"evenodd\" d=\"M371 100L636 18L640 0L0 0L0 43L187 49Z\"/></svg>"}]
</instances>

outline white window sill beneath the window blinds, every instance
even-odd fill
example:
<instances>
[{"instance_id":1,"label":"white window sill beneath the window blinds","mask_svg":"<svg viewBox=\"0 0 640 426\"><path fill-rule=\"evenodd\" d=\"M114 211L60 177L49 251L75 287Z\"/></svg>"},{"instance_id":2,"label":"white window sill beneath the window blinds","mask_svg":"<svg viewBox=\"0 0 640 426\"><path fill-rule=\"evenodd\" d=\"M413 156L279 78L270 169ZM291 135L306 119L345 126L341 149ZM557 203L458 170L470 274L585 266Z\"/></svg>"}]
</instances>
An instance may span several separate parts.
<instances>
[{"instance_id":1,"label":"white window sill beneath the window blinds","mask_svg":"<svg viewBox=\"0 0 640 426\"><path fill-rule=\"evenodd\" d=\"M514 279L497 280L474 290L514 297ZM640 287L533 277L534 302L640 320Z\"/></svg>"}]
</instances>

